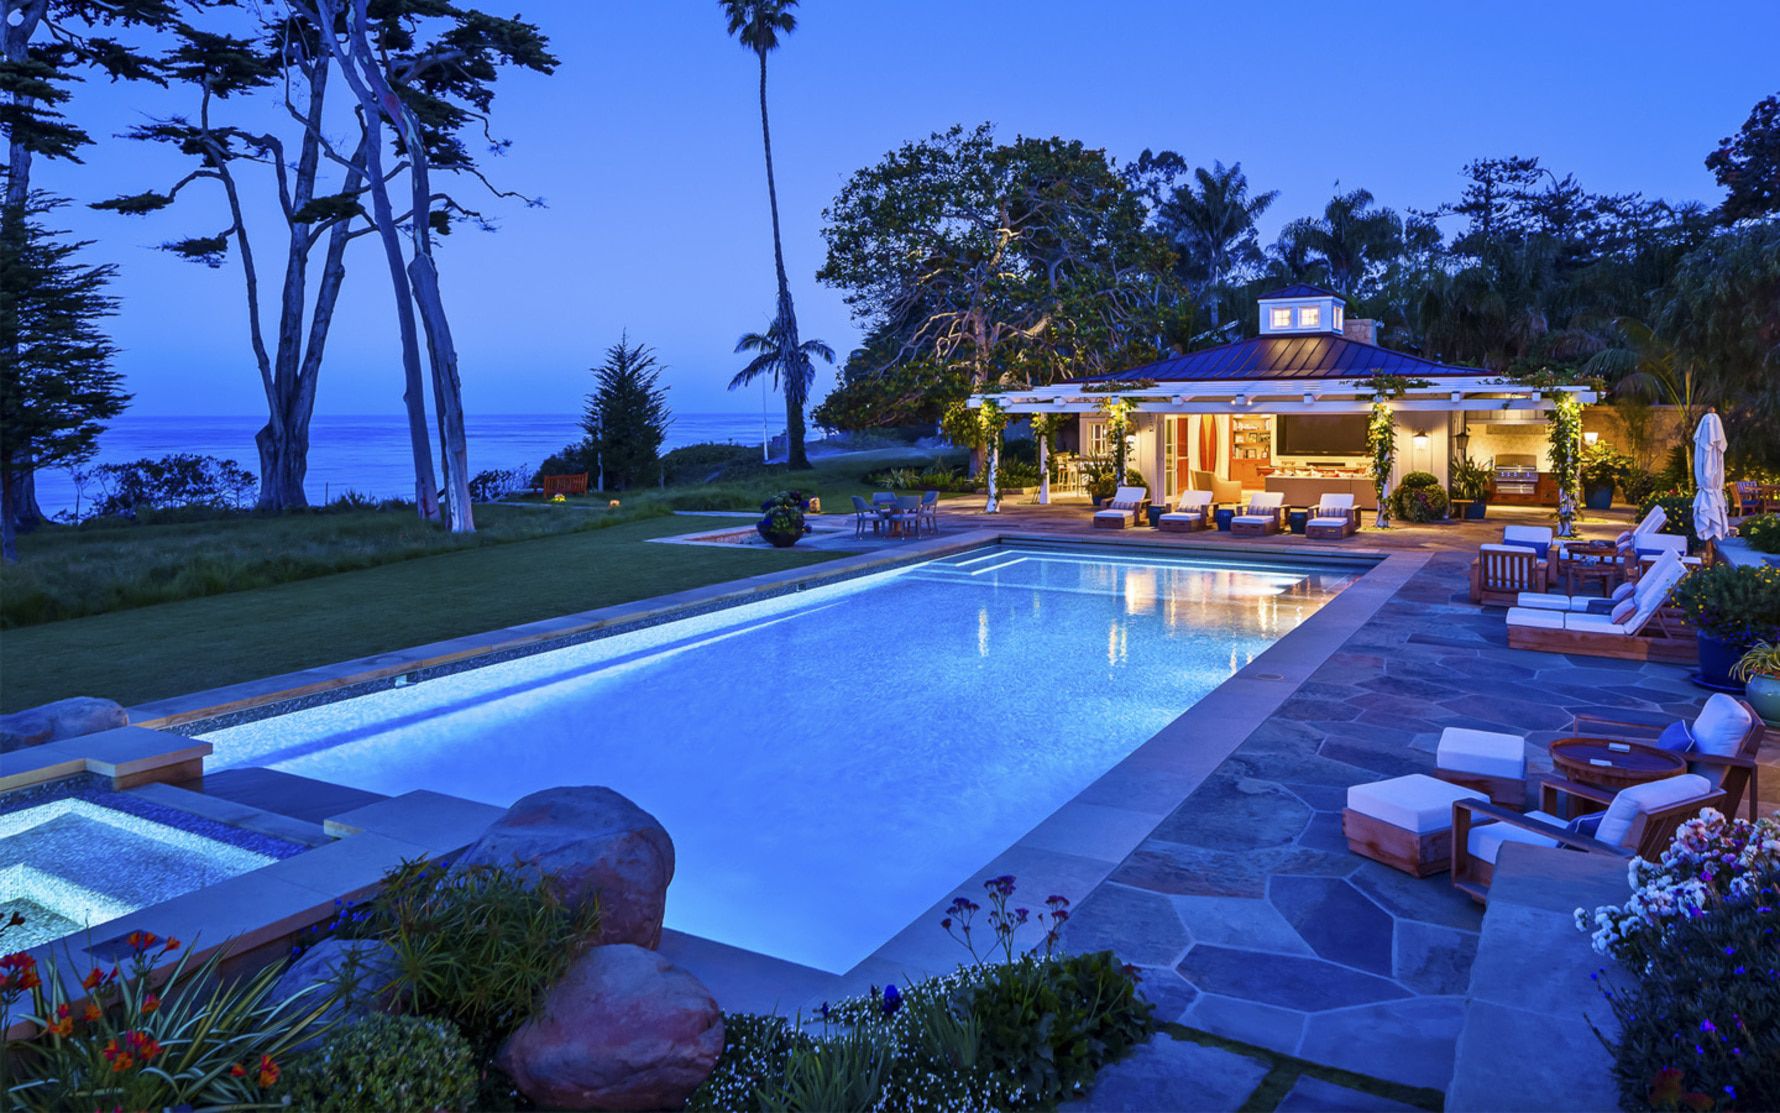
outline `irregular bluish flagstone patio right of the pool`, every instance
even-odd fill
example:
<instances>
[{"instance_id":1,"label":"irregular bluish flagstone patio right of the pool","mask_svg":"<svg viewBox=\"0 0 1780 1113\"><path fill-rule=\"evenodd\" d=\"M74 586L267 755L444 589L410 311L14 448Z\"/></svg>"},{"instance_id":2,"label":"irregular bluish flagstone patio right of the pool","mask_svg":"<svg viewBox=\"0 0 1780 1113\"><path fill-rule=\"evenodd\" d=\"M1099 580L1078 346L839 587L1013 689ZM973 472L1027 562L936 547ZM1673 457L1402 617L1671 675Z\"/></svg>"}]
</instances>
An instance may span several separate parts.
<instances>
[{"instance_id":1,"label":"irregular bluish flagstone patio right of the pool","mask_svg":"<svg viewBox=\"0 0 1780 1113\"><path fill-rule=\"evenodd\" d=\"M1536 775L1577 712L1666 721L1705 695L1677 666L1508 648L1467 565L1436 552L1075 908L1066 946L1143 967L1162 1020L1444 1088L1481 910L1351 855L1347 785L1431 773L1444 727L1525 734Z\"/></svg>"}]
</instances>

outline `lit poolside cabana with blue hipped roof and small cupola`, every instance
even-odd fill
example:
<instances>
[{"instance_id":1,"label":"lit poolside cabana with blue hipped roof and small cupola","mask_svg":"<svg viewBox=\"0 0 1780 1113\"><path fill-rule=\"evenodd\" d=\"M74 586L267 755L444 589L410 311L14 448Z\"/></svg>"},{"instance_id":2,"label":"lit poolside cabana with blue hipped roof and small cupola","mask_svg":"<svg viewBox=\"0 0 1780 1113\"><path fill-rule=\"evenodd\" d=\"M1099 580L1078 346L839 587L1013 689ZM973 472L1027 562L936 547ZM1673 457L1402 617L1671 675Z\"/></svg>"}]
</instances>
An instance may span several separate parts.
<instances>
[{"instance_id":1,"label":"lit poolside cabana with blue hipped roof and small cupola","mask_svg":"<svg viewBox=\"0 0 1780 1113\"><path fill-rule=\"evenodd\" d=\"M1449 481L1449 461L1467 454L1497 468L1499 502L1556 506L1549 479L1547 413L1558 392L1581 402L1581 386L1531 390L1476 367L1454 367L1376 344L1376 321L1346 317L1333 290L1292 285L1260 297L1260 335L1168 356L1107 376L993 397L1009 415L1063 413L1063 442L1082 459L1111 459L1104 404L1130 404L1129 463L1150 497L1173 502L1218 479L1244 492L1282 492L1307 506L1324 493L1353 493L1376 509L1365 424L1374 376L1426 379L1392 399L1397 451L1390 484L1408 472Z\"/></svg>"}]
</instances>

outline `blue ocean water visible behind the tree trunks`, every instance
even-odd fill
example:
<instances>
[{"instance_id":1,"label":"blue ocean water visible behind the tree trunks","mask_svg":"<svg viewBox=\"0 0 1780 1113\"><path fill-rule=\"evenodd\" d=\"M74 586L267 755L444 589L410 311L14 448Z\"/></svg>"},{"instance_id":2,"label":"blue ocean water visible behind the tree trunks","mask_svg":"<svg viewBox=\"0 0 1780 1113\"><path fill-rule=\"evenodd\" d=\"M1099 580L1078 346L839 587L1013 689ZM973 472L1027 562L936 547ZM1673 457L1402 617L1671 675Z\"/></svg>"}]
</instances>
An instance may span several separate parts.
<instances>
[{"instance_id":1,"label":"blue ocean water visible behind the tree trunks","mask_svg":"<svg viewBox=\"0 0 1780 1113\"><path fill-rule=\"evenodd\" d=\"M260 452L253 435L263 417L119 417L100 435L93 463L194 452L233 459L249 472L260 472ZM776 417L771 433L785 431ZM433 449L438 451L438 431ZM538 467L546 456L582 438L573 415L561 413L490 413L466 415L470 470ZM703 442L760 445L758 413L675 413L668 427L668 449ZM91 467L91 465L89 465ZM310 472L304 481L310 502L324 502L352 490L376 497L411 497L415 490L413 458L408 449L408 418L392 415L322 417L310 424ZM80 493L85 506L96 484ZM43 513L75 509L77 490L66 468L37 472L37 502Z\"/></svg>"}]
</instances>

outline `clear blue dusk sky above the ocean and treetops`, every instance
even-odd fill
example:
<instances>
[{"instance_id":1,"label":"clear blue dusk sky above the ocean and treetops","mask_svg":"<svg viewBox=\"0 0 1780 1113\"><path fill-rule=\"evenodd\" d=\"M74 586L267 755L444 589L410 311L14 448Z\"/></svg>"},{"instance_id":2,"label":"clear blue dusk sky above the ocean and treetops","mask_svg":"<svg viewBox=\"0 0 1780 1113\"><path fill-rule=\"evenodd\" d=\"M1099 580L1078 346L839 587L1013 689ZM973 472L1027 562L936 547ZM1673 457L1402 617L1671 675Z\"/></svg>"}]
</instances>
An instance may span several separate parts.
<instances>
[{"instance_id":1,"label":"clear blue dusk sky above the ocean and treetops","mask_svg":"<svg viewBox=\"0 0 1780 1113\"><path fill-rule=\"evenodd\" d=\"M758 392L724 390L737 335L773 305L751 55L707 0L532 0L523 14L562 64L504 82L495 116L513 148L490 169L548 207L490 203L500 232L463 232L445 249L468 408L578 410L586 369L628 328L669 367L676 410L756 410ZM1150 146L1241 160L1257 189L1280 191L1271 239L1337 182L1433 207L1456 196L1467 160L1508 153L1593 191L1712 203L1702 158L1780 87L1773 0L806 0L799 18L769 78L785 255L803 333L842 353L858 329L840 292L813 278L821 210L851 171L951 123L1077 137L1118 158ZM182 109L94 82L71 114L110 135ZM39 162L37 183L91 201L178 173L162 151L101 139L84 166ZM134 413L263 413L235 260L208 271L151 249L219 230L219 198L192 194L148 219L62 217L96 240L94 260L121 269L114 335ZM271 280L276 221L256 232ZM395 413L390 290L370 240L349 267L319 411Z\"/></svg>"}]
</instances>

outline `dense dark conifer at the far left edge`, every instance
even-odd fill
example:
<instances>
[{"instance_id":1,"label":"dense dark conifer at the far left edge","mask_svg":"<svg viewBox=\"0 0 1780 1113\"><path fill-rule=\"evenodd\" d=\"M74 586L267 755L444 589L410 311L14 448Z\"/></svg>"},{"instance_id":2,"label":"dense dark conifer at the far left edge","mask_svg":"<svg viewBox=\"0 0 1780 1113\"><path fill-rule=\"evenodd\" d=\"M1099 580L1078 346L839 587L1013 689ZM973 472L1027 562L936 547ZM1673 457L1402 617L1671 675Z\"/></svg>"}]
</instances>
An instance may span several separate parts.
<instances>
[{"instance_id":1,"label":"dense dark conifer at the far left edge","mask_svg":"<svg viewBox=\"0 0 1780 1113\"><path fill-rule=\"evenodd\" d=\"M105 294L114 267L85 265L87 246L57 237L41 217L61 201L30 194L0 221L0 554L16 561L14 479L27 467L93 456L103 422L130 395L98 328L116 312Z\"/></svg>"}]
</instances>

